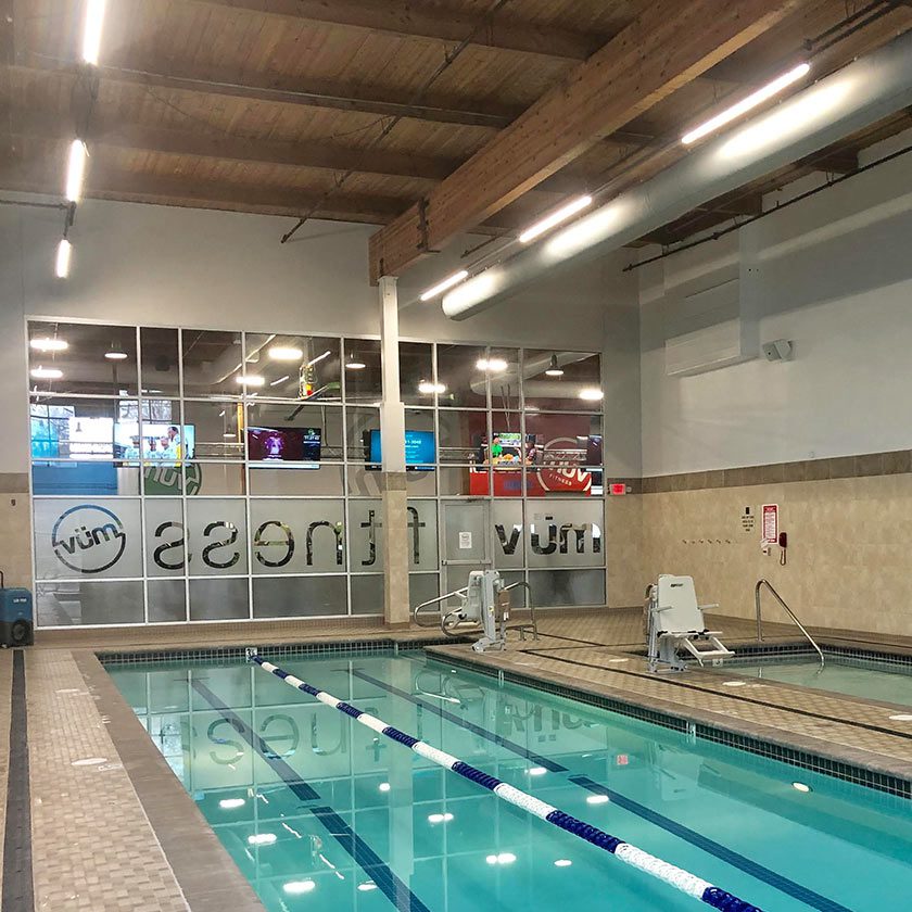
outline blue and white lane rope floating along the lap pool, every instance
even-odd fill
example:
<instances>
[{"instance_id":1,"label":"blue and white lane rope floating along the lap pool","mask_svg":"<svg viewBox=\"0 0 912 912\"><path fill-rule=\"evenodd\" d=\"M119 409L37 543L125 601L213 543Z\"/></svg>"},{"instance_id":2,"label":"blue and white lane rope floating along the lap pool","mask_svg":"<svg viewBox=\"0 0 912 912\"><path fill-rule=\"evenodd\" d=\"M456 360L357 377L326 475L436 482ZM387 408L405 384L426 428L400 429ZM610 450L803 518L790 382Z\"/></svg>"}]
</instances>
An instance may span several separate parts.
<instances>
[{"instance_id":1,"label":"blue and white lane rope floating along the lap pool","mask_svg":"<svg viewBox=\"0 0 912 912\"><path fill-rule=\"evenodd\" d=\"M540 798L535 798L469 763L463 762L458 757L453 757L405 732L401 732L398 729L388 725L381 719L363 712L357 707L333 697L332 694L327 694L326 691L318 691L300 677L295 677L293 674L289 674L278 666L273 664L273 662L261 658L252 649L248 651L248 658L252 662L256 662L264 671L268 671L275 674L276 677L280 677L286 684L303 691L305 694L309 694L321 704L326 704L326 706L331 706L340 712L344 712L346 715L350 715L355 721L360 722L362 725L366 725L378 734L384 735L391 740L410 748L419 757L423 757L426 760L430 760L446 770L458 773L464 778L480 785L482 788L486 788L489 791L493 791L504 801L522 808L522 810L565 829L567 833L572 833L574 836L585 839L585 841L591 843L593 846L605 849L605 851L610 852L625 864L630 864L632 867L650 874L653 877L662 881L694 899L705 902L707 905L711 905L713 909L722 910L722 912L762 912L757 905L738 899L721 887L714 887L709 882L681 867L669 864L667 861L662 861L660 858L643 851L643 849L637 849L636 846L631 846L630 843L624 843L617 836L611 836L579 818L558 810Z\"/></svg>"}]
</instances>

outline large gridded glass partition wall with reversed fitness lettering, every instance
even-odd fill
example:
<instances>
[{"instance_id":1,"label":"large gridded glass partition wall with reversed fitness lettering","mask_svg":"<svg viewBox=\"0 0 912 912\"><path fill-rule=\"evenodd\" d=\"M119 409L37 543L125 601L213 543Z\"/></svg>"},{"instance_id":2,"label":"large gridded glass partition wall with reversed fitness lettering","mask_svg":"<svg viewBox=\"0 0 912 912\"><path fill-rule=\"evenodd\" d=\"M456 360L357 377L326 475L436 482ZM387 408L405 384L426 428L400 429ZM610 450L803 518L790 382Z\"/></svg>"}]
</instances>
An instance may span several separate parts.
<instances>
[{"instance_id":1,"label":"large gridded glass partition wall with reversed fitness lettering","mask_svg":"<svg viewBox=\"0 0 912 912\"><path fill-rule=\"evenodd\" d=\"M38 625L382 615L377 340L28 337ZM465 558L604 605L599 356L404 341L400 372L413 605Z\"/></svg>"}]
</instances>

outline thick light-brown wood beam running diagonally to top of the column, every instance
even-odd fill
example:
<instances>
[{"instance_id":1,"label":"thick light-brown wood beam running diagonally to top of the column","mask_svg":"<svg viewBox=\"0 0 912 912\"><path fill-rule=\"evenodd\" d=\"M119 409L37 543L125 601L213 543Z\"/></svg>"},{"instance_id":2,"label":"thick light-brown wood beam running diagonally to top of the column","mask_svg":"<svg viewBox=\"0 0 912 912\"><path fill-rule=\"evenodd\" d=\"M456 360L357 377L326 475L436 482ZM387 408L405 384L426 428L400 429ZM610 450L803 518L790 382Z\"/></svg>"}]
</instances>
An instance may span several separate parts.
<instances>
[{"instance_id":1,"label":"thick light-brown wood beam running diagonally to top of the column","mask_svg":"<svg viewBox=\"0 0 912 912\"><path fill-rule=\"evenodd\" d=\"M655 0L600 51L370 239L370 278L400 275L807 0Z\"/></svg>"}]
</instances>

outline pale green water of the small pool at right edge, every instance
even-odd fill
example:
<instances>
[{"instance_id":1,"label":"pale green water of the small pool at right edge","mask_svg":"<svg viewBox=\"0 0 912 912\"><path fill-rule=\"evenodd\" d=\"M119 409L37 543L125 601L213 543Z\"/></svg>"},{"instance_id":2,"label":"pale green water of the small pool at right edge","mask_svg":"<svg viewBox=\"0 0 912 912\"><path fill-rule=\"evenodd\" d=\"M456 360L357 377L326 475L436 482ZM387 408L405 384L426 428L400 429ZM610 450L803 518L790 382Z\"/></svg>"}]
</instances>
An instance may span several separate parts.
<instances>
[{"instance_id":1,"label":"pale green water of the small pool at right edge","mask_svg":"<svg viewBox=\"0 0 912 912\"><path fill-rule=\"evenodd\" d=\"M828 655L825 658L822 669L816 658L726 664L725 668L726 673L731 671L869 700L912 706L912 667L878 662L876 659L840 659Z\"/></svg>"}]
</instances>

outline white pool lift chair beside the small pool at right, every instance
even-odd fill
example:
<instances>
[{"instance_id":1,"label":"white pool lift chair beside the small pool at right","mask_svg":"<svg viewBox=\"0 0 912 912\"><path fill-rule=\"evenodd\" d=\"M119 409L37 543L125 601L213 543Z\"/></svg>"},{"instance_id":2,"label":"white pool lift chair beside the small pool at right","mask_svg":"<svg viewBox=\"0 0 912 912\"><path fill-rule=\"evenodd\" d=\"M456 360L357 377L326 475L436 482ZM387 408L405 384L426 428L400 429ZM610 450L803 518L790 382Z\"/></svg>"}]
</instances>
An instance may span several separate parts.
<instances>
[{"instance_id":1,"label":"white pool lift chair beside the small pool at right","mask_svg":"<svg viewBox=\"0 0 912 912\"><path fill-rule=\"evenodd\" d=\"M706 629L704 610L718 607L697 605L693 577L660 574L659 581L646 590L649 670L658 671L660 664L672 671L686 670L682 650L700 666L734 656L719 639L720 631Z\"/></svg>"}]
</instances>

